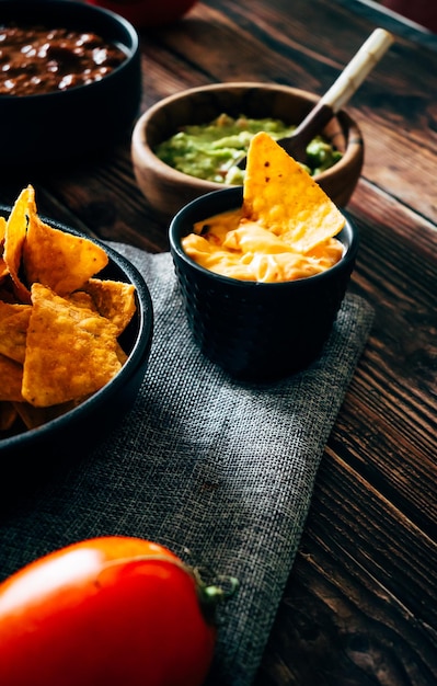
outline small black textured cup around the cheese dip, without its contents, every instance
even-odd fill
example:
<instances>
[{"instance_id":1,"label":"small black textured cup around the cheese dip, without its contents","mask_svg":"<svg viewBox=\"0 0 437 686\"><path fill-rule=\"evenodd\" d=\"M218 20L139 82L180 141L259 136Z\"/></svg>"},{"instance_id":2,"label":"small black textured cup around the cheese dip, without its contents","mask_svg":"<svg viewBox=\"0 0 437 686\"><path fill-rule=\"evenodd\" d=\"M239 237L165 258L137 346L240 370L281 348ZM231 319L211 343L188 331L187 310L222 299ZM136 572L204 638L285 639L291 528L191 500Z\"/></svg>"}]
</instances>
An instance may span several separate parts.
<instances>
[{"instance_id":1,"label":"small black textured cup around the cheese dip, without its contents","mask_svg":"<svg viewBox=\"0 0 437 686\"><path fill-rule=\"evenodd\" d=\"M232 187L188 203L170 225L170 250L202 352L237 378L266 382L304 369L321 354L355 265L358 231L346 218L336 237L344 245L340 262L296 281L239 281L199 266L184 252L183 237L196 222L238 209L242 199L242 188Z\"/></svg>"}]
</instances>

